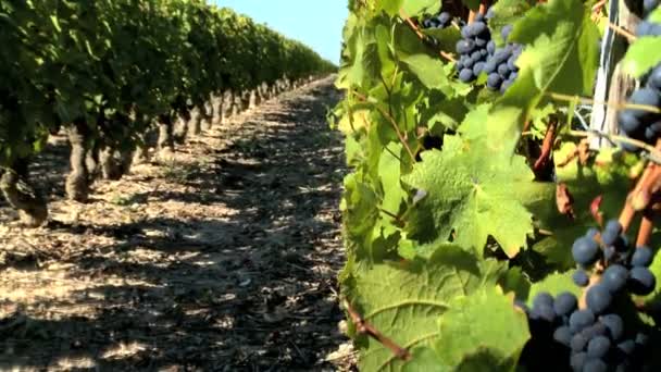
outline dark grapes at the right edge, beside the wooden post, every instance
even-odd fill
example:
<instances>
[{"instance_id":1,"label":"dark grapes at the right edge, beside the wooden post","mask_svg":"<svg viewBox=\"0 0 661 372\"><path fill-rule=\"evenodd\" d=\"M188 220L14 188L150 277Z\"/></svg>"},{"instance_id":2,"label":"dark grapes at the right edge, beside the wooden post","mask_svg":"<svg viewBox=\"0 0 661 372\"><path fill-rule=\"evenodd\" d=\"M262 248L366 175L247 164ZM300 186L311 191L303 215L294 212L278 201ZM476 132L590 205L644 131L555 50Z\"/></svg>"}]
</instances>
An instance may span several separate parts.
<instances>
[{"instance_id":1,"label":"dark grapes at the right edge, beside the wooden post","mask_svg":"<svg viewBox=\"0 0 661 372\"><path fill-rule=\"evenodd\" d=\"M636 28L638 37L661 36L661 24L643 21ZM661 64L652 69L644 78L644 86L634 90L627 103L646 104L661 108ZM620 131L627 137L654 145L661 136L661 115L641 109L625 109L618 114ZM638 148L622 144L627 151L637 151Z\"/></svg>"}]
</instances>

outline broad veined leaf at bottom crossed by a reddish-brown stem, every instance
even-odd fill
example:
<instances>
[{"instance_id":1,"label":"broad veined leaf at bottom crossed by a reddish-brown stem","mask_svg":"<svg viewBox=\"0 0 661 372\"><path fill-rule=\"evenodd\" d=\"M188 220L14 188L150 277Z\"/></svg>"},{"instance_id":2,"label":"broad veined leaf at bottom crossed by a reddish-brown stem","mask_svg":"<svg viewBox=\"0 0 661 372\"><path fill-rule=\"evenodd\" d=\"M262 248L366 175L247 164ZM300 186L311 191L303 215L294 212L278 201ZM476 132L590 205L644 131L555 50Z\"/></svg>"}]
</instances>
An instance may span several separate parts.
<instances>
[{"instance_id":1,"label":"broad veined leaf at bottom crossed by a reddish-brown stem","mask_svg":"<svg viewBox=\"0 0 661 372\"><path fill-rule=\"evenodd\" d=\"M360 369L414 370L425 363L419 358L434 358L438 364L440 361L431 351L440 336L439 317L457 297L495 286L506 271L506 263L478 261L457 246L444 246L428 260L356 269L344 282L348 299L365 321L414 356L411 362L403 362L384 345L358 336Z\"/></svg>"}]
</instances>

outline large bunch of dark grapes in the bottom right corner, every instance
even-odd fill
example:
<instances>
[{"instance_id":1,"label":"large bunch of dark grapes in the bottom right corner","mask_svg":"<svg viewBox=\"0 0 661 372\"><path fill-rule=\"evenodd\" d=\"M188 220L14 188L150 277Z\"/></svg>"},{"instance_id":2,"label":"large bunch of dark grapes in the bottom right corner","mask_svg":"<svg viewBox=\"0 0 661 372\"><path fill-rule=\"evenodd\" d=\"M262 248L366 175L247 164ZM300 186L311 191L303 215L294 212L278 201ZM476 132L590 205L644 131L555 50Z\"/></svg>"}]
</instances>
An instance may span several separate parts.
<instances>
[{"instance_id":1,"label":"large bunch of dark grapes in the bottom right corner","mask_svg":"<svg viewBox=\"0 0 661 372\"><path fill-rule=\"evenodd\" d=\"M576 296L569 292L556 298L540 293L529 309L517 303L528 317L532 334L522 364L531 371L645 369L648 336L636 331L637 323L625 322L623 309L631 305L629 294L653 292L656 277L648 269L653 252L648 247L629 248L615 220L609 221L601 233L594 228L574 241L572 256L581 268L574 273L574 282L587 287L586 307L581 308ZM586 273L591 266L604 268L595 283Z\"/></svg>"}]
</instances>

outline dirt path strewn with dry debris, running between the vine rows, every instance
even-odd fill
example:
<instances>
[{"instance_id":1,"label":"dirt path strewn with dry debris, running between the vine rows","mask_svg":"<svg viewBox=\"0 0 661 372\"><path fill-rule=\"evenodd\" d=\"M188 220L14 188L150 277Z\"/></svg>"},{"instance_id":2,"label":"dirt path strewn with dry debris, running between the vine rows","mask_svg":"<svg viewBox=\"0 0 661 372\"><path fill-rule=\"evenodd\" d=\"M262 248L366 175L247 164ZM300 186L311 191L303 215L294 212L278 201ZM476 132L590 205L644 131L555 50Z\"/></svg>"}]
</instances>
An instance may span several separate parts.
<instances>
[{"instance_id":1,"label":"dirt path strewn with dry debris, running between the vine rows","mask_svg":"<svg viewBox=\"0 0 661 372\"><path fill-rule=\"evenodd\" d=\"M338 369L338 99L332 79L286 94L88 204L62 199L54 138L35 166L48 226L0 208L0 370Z\"/></svg>"}]
</instances>

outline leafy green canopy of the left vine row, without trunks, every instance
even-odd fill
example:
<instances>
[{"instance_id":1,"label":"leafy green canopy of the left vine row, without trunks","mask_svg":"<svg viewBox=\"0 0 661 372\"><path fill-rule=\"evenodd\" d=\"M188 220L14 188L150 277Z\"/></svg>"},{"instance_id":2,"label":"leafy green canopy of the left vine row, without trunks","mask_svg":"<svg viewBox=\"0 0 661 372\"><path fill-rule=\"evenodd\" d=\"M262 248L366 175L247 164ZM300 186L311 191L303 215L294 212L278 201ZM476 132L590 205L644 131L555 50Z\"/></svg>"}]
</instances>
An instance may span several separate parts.
<instances>
[{"instance_id":1,"label":"leafy green canopy of the left vine row, without trunks","mask_svg":"<svg viewBox=\"0 0 661 372\"><path fill-rule=\"evenodd\" d=\"M0 164L38 151L26 144L61 124L84 120L122 147L187 101L334 70L201 0L0 0Z\"/></svg>"}]
</instances>

